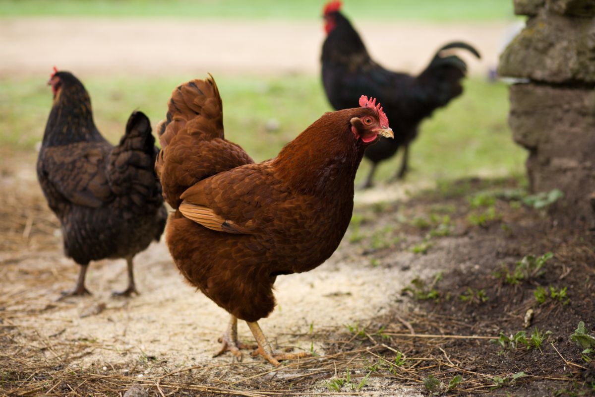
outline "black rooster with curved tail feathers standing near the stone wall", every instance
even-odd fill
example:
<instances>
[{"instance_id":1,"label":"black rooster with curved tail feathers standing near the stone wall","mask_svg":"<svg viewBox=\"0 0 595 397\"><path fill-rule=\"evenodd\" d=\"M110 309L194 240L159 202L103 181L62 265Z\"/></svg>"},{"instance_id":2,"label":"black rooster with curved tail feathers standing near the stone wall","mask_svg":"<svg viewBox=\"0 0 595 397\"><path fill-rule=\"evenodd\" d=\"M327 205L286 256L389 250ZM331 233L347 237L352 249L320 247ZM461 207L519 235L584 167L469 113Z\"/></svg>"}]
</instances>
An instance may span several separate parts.
<instances>
[{"instance_id":1,"label":"black rooster with curved tail feathers standing near the stone wall","mask_svg":"<svg viewBox=\"0 0 595 397\"><path fill-rule=\"evenodd\" d=\"M440 48L419 76L395 73L370 58L364 42L340 8L340 1L332 1L324 8L327 37L322 45L322 83L328 101L339 110L356 107L359 95L378 98L394 131L394 139L381 138L365 151L365 157L372 161L364 185L369 187L378 163L393 157L401 146L403 162L395 177L405 176L409 143L417 136L419 123L461 94L465 62L443 52L463 48L478 58L480 54L466 43L453 42Z\"/></svg>"}]
</instances>

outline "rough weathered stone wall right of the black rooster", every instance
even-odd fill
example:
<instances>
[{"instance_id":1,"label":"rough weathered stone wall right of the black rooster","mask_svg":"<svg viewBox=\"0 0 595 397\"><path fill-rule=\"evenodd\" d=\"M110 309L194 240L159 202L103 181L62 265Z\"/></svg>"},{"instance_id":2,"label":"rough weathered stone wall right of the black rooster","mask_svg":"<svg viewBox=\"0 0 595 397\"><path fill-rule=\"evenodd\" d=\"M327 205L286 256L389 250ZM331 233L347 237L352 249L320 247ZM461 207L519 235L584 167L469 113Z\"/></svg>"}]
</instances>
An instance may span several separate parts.
<instances>
[{"instance_id":1,"label":"rough weathered stone wall right of the black rooster","mask_svg":"<svg viewBox=\"0 0 595 397\"><path fill-rule=\"evenodd\" d=\"M555 215L595 224L595 0L515 0L527 26L500 56L509 123L529 151L530 189L565 198ZM577 224L577 226L580 226Z\"/></svg>"}]
</instances>

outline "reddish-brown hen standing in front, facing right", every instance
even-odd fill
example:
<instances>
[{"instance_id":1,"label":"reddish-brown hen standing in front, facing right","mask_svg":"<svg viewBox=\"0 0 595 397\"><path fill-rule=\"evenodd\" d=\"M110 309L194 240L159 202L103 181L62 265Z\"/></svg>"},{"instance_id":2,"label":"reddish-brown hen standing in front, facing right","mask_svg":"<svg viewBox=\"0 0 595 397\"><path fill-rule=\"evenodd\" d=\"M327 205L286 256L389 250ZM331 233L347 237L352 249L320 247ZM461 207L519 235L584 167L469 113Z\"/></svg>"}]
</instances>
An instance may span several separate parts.
<instances>
[{"instance_id":1,"label":"reddish-brown hen standing in front, facing right","mask_svg":"<svg viewBox=\"0 0 595 397\"><path fill-rule=\"evenodd\" d=\"M258 354L275 354L258 326L275 306L281 274L311 270L335 251L353 210L353 180L366 146L393 136L380 104L322 115L276 158L255 164L224 139L223 107L212 77L177 87L158 126L156 170L176 209L167 245L180 272L231 314L220 354L241 358L237 319Z\"/></svg>"}]
</instances>

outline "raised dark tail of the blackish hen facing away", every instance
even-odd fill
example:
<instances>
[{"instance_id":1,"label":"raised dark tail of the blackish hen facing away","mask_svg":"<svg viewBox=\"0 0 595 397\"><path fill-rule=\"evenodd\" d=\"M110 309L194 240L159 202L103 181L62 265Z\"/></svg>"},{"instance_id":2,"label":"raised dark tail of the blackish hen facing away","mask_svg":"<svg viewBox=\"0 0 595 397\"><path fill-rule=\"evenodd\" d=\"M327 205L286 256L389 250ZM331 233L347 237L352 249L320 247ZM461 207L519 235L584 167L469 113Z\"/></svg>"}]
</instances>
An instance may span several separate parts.
<instances>
[{"instance_id":1,"label":"raised dark tail of the blackish hen facing away","mask_svg":"<svg viewBox=\"0 0 595 397\"><path fill-rule=\"evenodd\" d=\"M151 122L143 112L133 112L126 124L126 133L112 149L107 165L108 183L112 192L129 200L130 208L146 211L146 205L159 206L161 186L153 164L157 154Z\"/></svg>"}]
</instances>

